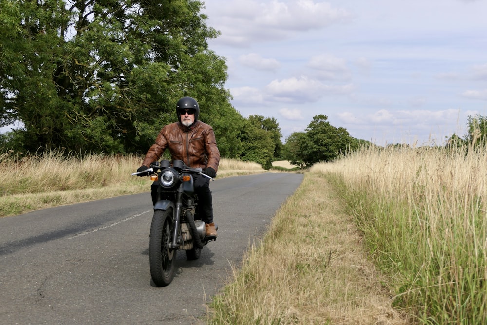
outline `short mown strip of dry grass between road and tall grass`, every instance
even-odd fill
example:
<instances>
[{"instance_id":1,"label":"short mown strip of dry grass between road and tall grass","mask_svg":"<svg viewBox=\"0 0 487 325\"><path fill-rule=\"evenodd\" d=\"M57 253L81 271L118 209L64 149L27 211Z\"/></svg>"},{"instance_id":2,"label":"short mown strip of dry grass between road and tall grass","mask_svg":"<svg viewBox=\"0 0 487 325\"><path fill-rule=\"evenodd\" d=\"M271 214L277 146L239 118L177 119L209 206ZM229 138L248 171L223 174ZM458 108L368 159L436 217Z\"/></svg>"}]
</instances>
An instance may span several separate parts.
<instances>
[{"instance_id":1,"label":"short mown strip of dry grass between road and tall grass","mask_svg":"<svg viewBox=\"0 0 487 325\"><path fill-rule=\"evenodd\" d=\"M407 324L327 178L308 172L211 303L209 324Z\"/></svg>"}]
</instances>

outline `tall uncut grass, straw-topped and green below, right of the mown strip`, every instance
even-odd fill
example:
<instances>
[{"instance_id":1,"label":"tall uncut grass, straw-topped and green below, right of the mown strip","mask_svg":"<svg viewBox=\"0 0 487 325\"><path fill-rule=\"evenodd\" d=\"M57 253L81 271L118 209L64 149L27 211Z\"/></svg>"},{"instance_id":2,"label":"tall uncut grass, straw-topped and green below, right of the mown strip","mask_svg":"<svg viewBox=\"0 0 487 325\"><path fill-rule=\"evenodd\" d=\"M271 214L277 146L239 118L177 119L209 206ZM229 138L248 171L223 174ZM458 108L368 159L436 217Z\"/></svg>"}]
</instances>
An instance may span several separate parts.
<instances>
[{"instance_id":1,"label":"tall uncut grass, straw-topped and green below, right of the mown strip","mask_svg":"<svg viewBox=\"0 0 487 325\"><path fill-rule=\"evenodd\" d=\"M486 160L486 149L370 148L312 168L341 191L417 323L487 324Z\"/></svg>"}]
</instances>

